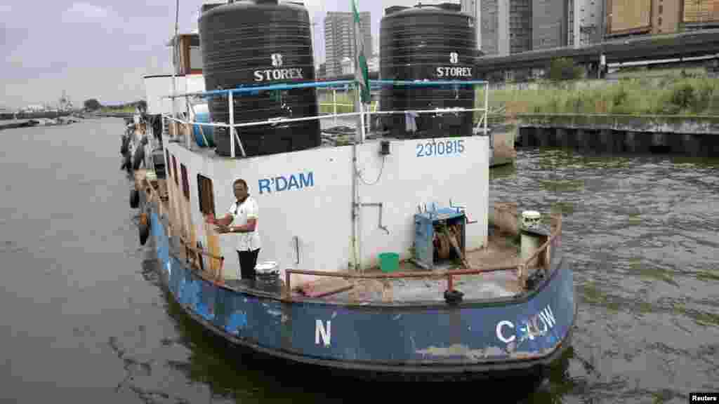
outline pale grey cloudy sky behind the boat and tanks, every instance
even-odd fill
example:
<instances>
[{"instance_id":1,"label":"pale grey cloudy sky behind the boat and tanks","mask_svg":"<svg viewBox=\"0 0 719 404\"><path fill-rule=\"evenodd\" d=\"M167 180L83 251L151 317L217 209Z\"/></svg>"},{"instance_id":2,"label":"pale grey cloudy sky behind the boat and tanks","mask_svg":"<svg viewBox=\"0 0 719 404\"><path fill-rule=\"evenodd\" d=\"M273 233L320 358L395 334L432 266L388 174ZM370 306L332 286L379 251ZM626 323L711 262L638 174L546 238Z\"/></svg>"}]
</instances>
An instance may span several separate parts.
<instances>
[{"instance_id":1,"label":"pale grey cloudy sky behind the boat and tanks","mask_svg":"<svg viewBox=\"0 0 719 404\"><path fill-rule=\"evenodd\" d=\"M305 0L313 22L324 27L326 12L349 12L350 0ZM448 0L423 0L436 4ZM449 0L451 1L451 0ZM180 32L197 28L203 0L180 0ZM211 1L217 2L217 1ZM459 3L459 0L456 0ZM359 0L372 13L372 40L388 6L417 0ZM144 97L142 75L171 73L175 0L0 0L0 106L56 105L63 91L75 106L88 98L122 104ZM324 60L318 29L316 57Z\"/></svg>"}]
</instances>

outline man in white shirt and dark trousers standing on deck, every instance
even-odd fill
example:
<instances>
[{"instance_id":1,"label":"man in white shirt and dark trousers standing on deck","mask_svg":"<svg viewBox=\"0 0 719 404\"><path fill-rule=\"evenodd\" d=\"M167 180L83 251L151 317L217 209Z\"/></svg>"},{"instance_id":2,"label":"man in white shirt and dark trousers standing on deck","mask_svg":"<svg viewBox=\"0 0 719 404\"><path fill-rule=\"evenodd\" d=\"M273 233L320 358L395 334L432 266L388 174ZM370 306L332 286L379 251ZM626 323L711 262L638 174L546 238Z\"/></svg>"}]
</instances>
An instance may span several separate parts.
<instances>
[{"instance_id":1,"label":"man in white shirt and dark trousers standing on deck","mask_svg":"<svg viewBox=\"0 0 719 404\"><path fill-rule=\"evenodd\" d=\"M242 279L255 280L257 254L260 253L260 234L257 232L257 202L247 193L247 183L239 178L234 181L234 197L227 214L221 219L209 218L209 223L217 225L221 234L237 233L237 255L239 256ZM238 224L231 226L232 223Z\"/></svg>"}]
</instances>

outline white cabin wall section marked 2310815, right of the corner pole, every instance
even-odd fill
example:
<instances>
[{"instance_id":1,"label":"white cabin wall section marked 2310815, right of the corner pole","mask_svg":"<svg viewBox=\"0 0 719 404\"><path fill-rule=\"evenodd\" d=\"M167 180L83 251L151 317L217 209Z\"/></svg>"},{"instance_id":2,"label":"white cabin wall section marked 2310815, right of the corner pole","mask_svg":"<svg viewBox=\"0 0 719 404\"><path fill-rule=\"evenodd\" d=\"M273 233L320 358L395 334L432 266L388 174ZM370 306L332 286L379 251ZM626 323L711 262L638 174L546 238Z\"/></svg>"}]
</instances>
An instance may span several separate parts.
<instances>
[{"instance_id":1,"label":"white cabin wall section marked 2310815, right of the corner pole","mask_svg":"<svg viewBox=\"0 0 719 404\"><path fill-rule=\"evenodd\" d=\"M436 139L436 143L454 143L458 138ZM409 257L414 240L414 214L418 206L466 206L467 215L477 224L467 226L467 249L476 249L486 242L487 192L489 187L488 138L464 137L464 152L452 155L417 157L418 144L426 150L432 139L391 142L382 176L376 185L360 181L362 203L383 203L383 225L390 234L379 229L379 210L362 208L362 264L378 264L380 252L398 252ZM362 145L358 152L359 169L365 182L377 179L382 167L380 144ZM351 195L349 196L352 197ZM484 224L482 224L484 223Z\"/></svg>"}]
</instances>

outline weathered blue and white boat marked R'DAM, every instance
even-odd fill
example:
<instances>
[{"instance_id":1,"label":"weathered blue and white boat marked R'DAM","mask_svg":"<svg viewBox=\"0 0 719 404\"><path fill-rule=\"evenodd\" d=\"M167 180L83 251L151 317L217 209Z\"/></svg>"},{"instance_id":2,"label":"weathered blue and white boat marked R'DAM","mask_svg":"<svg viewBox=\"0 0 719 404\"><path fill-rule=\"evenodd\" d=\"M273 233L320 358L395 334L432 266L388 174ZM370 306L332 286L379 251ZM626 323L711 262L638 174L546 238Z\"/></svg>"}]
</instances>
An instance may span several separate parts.
<instances>
[{"instance_id":1,"label":"weathered blue and white boat marked R'DAM","mask_svg":"<svg viewBox=\"0 0 719 404\"><path fill-rule=\"evenodd\" d=\"M128 142L128 155L142 154L129 167L139 243L157 260L172 300L232 344L337 371L423 380L523 375L549 366L570 346L577 312L562 216L518 213L512 201L490 206L486 129L458 135L445 126L439 136L373 136L357 96L358 112L338 114L362 122L357 134L349 142L324 142L313 125L333 116L316 114L316 106L306 109L315 114L293 114L288 111L298 106L283 101L293 91L314 94L316 88L356 86L359 94L361 78L316 81L290 65L284 70L294 75L290 80L275 73L283 71L279 53L254 49L272 55L254 67L259 74L251 77L261 81L208 85L217 72L193 65L201 62L191 52L201 45L208 66L222 54L210 54L216 37L203 32L213 24L226 27L221 13L260 21L275 9L299 16L287 27L300 27L294 37L306 40L311 57L303 6L266 0L203 6L199 32L175 29L170 41L180 63L172 74L145 76L147 111L127 121L122 149ZM402 13L393 18L472 18L431 8ZM260 35L266 37L252 41L281 37ZM452 54L448 63L465 54ZM287 55L288 65L291 60ZM273 77L278 80L265 80ZM487 84L431 78L370 85L426 94ZM302 99L313 104L316 98ZM275 102L273 113L283 113L275 118L242 109ZM194 112L202 103L212 119ZM487 103L479 110L486 114ZM444 110L416 112L442 119ZM402 109L376 113L408 116ZM287 133L294 143L270 141ZM255 280L242 279L232 236L211 224L235 202L237 178L260 207Z\"/></svg>"}]
</instances>

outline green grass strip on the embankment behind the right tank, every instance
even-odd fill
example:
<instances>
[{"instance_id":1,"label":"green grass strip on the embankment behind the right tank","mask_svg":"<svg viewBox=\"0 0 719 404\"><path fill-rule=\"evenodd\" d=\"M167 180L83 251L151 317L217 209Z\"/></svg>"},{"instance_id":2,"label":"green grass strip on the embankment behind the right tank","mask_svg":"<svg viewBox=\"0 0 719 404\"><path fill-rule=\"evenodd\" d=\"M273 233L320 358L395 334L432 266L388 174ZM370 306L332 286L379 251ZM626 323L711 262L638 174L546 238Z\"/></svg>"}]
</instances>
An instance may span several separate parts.
<instances>
[{"instance_id":1,"label":"green grass strip on the embankment behind the right tank","mask_svg":"<svg viewBox=\"0 0 719 404\"><path fill-rule=\"evenodd\" d=\"M477 108L484 91L477 91ZM490 90L490 109L505 114L719 115L719 80L667 77L636 78L597 88L556 84L539 89Z\"/></svg>"}]
</instances>

